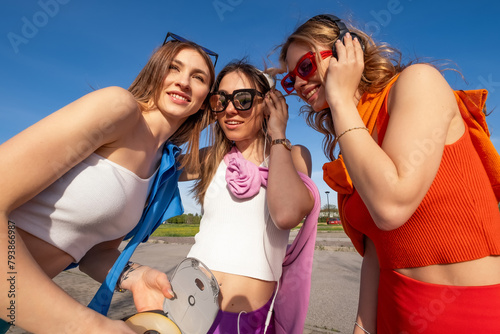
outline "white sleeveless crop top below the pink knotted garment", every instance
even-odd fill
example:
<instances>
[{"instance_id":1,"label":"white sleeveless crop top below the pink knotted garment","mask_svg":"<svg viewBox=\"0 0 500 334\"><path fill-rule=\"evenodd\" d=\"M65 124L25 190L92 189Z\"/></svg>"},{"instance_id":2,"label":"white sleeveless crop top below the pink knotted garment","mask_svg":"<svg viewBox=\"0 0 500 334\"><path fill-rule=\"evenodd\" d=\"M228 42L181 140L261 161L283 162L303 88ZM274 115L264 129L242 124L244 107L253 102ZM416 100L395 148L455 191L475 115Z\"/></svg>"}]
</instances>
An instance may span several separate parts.
<instances>
[{"instance_id":1,"label":"white sleeveless crop top below the pink knotted garment","mask_svg":"<svg viewBox=\"0 0 500 334\"><path fill-rule=\"evenodd\" d=\"M252 198L237 199L226 185L226 169L222 161L207 189L200 231L188 257L211 270L277 281L289 231L271 220L265 187Z\"/></svg>"}]
</instances>

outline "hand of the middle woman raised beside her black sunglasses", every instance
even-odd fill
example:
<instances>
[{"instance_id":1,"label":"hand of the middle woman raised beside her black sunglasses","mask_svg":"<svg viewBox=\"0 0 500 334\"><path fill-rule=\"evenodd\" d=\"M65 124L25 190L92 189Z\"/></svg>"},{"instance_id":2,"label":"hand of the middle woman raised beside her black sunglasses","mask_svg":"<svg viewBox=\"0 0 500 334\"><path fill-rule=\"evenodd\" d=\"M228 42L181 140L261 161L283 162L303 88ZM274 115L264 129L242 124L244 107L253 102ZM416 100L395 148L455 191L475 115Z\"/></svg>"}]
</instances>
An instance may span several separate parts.
<instances>
[{"instance_id":1,"label":"hand of the middle woman raised beside her black sunglasses","mask_svg":"<svg viewBox=\"0 0 500 334\"><path fill-rule=\"evenodd\" d=\"M265 96L266 111L264 116L269 117L267 122L268 134L273 139L286 137L288 122L288 104L280 91L271 89Z\"/></svg>"}]
</instances>

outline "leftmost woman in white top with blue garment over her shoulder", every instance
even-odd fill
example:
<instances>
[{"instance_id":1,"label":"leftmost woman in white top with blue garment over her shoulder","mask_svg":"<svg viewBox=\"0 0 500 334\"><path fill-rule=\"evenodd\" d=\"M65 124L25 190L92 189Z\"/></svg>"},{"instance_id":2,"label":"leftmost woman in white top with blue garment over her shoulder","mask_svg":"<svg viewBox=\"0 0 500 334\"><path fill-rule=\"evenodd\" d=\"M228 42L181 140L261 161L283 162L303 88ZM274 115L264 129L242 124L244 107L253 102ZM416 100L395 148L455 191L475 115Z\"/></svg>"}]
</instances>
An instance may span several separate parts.
<instances>
[{"instance_id":1,"label":"leftmost woman in white top with blue garment over her shoulder","mask_svg":"<svg viewBox=\"0 0 500 334\"><path fill-rule=\"evenodd\" d=\"M87 94L0 146L4 330L8 323L34 333L133 333L70 298L51 278L77 263L102 282L127 234L139 236L137 245L160 219L182 213L179 165L197 166L215 75L206 49L168 37L128 90ZM193 153L179 160L184 143ZM126 249L130 257L135 248ZM106 279L110 291L100 290L93 307L106 313L99 304L116 282L117 290L132 291L138 311L161 309L172 297L166 275L120 259Z\"/></svg>"}]
</instances>

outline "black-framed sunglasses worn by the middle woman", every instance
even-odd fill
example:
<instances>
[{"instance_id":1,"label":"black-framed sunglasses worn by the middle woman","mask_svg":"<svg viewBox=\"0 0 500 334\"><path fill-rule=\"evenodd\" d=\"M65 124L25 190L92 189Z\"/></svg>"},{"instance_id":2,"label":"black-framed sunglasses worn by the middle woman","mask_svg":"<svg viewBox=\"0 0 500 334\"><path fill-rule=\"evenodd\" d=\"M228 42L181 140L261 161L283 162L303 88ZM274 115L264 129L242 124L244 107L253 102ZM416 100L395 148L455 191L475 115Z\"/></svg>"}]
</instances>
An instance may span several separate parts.
<instances>
[{"instance_id":1,"label":"black-framed sunglasses worn by the middle woman","mask_svg":"<svg viewBox=\"0 0 500 334\"><path fill-rule=\"evenodd\" d=\"M234 109L238 111L245 111L252 108L253 99L255 95L264 97L264 93L256 89L236 89L233 94L225 92L210 93L209 106L213 112L223 112L226 110L229 102L233 103Z\"/></svg>"}]
</instances>

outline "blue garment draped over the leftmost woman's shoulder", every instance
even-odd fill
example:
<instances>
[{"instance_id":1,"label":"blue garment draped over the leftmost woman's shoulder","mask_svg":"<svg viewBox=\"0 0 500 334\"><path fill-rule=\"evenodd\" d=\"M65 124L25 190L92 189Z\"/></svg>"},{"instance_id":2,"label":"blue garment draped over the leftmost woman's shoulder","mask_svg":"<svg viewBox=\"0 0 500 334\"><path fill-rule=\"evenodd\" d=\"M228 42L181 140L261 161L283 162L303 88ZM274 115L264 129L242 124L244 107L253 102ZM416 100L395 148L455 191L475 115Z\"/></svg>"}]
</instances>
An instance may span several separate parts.
<instances>
[{"instance_id":1,"label":"blue garment draped over the leftmost woman's shoulder","mask_svg":"<svg viewBox=\"0 0 500 334\"><path fill-rule=\"evenodd\" d=\"M176 158L179 156L180 151L180 148L172 143L165 143L163 147L160 167L154 178L147 206L142 212L139 223L125 236L125 240L130 238L132 240L129 241L120 254L105 281L88 305L89 308L102 315L107 315L116 282L137 246L141 242L146 242L162 222L184 212L177 186L181 170L178 169ZM73 264L66 269L76 266L77 264ZM9 323L0 319L0 334L6 333L9 327Z\"/></svg>"}]
</instances>

